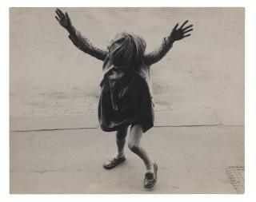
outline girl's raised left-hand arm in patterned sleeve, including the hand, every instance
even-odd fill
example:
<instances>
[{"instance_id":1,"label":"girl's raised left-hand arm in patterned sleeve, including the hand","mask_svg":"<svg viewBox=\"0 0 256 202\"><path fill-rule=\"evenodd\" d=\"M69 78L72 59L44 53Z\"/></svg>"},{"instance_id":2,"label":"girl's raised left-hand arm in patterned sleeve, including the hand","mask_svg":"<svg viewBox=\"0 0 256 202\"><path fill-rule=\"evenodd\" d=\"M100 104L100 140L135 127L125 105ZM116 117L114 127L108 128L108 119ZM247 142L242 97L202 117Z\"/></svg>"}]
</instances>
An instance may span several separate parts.
<instances>
[{"instance_id":1,"label":"girl's raised left-hand arm in patterned sleeve, including the hand","mask_svg":"<svg viewBox=\"0 0 256 202\"><path fill-rule=\"evenodd\" d=\"M63 14L62 10L56 9L55 18L58 20L59 24L63 26L70 33L70 40L73 42L74 46L77 46L79 50L96 57L99 60L104 61L107 55L105 50L100 50L93 46L90 41L82 36L82 34L72 26L69 15Z\"/></svg>"}]
</instances>

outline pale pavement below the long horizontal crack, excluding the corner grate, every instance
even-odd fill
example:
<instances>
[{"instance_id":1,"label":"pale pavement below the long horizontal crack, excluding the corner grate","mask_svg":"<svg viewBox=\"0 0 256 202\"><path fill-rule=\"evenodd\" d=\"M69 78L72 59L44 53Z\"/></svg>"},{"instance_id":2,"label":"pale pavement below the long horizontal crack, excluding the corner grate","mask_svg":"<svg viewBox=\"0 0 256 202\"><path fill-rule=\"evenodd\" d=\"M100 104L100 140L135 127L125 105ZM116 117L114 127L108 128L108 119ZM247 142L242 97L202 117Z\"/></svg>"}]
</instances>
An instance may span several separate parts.
<instances>
[{"instance_id":1,"label":"pale pavement below the long horizontal crack, excluding the corner grate","mask_svg":"<svg viewBox=\"0 0 256 202\"><path fill-rule=\"evenodd\" d=\"M142 188L142 160L126 147L113 170L114 133L100 129L10 133L12 193L237 193L228 166L244 166L244 127L155 127L142 145L158 163L158 186Z\"/></svg>"}]
</instances>

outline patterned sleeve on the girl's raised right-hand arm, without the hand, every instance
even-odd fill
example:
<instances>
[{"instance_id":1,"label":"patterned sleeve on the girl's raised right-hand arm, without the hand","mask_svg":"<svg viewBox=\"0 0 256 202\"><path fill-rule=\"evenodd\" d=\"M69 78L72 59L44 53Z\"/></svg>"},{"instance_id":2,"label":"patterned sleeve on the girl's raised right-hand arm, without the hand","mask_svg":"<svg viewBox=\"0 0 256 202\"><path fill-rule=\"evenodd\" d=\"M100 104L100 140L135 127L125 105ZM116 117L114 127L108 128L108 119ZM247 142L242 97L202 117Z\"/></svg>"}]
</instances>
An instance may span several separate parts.
<instances>
[{"instance_id":1,"label":"patterned sleeve on the girl's raised right-hand arm, without the hand","mask_svg":"<svg viewBox=\"0 0 256 202\"><path fill-rule=\"evenodd\" d=\"M170 41L168 38L164 38L162 40L162 45L158 47L158 49L154 50L151 53L146 53L144 55L144 60L146 65L153 65L154 63L160 61L162 57L166 55L166 53L171 49L173 46L173 41Z\"/></svg>"}]
</instances>

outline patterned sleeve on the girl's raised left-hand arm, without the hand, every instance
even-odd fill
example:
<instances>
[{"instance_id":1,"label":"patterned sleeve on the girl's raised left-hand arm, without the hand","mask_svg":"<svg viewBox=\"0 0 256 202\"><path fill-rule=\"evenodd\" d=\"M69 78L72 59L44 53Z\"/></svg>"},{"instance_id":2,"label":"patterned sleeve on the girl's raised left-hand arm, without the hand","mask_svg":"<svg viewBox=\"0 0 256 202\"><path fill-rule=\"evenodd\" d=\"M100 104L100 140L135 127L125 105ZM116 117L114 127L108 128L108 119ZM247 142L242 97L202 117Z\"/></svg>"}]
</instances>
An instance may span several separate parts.
<instances>
[{"instance_id":1,"label":"patterned sleeve on the girl's raised left-hand arm, without the hand","mask_svg":"<svg viewBox=\"0 0 256 202\"><path fill-rule=\"evenodd\" d=\"M106 50L101 50L93 46L90 41L86 37L82 36L78 30L74 30L69 35L69 38L73 42L74 46L77 46L79 50L96 57L98 60L105 60L107 55Z\"/></svg>"}]
</instances>

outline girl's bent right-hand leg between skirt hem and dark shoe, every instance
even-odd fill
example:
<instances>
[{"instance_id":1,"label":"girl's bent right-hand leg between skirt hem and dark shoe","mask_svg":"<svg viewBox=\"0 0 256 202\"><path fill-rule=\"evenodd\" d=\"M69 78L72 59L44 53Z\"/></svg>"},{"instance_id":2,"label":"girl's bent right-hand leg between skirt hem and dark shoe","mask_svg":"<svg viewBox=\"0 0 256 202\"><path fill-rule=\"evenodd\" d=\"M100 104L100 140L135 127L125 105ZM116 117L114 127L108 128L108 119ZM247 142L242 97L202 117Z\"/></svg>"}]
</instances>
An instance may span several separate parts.
<instances>
[{"instance_id":1,"label":"girl's bent right-hand leg between skirt hem and dark shoe","mask_svg":"<svg viewBox=\"0 0 256 202\"><path fill-rule=\"evenodd\" d=\"M134 125L130 129L128 147L132 152L136 153L144 161L144 164L146 165L146 172L153 173L154 160L150 158L146 150L143 149L142 145L140 144L142 134L142 125Z\"/></svg>"}]
</instances>

